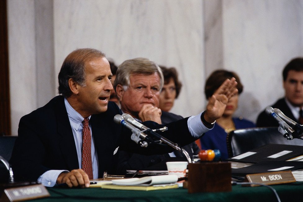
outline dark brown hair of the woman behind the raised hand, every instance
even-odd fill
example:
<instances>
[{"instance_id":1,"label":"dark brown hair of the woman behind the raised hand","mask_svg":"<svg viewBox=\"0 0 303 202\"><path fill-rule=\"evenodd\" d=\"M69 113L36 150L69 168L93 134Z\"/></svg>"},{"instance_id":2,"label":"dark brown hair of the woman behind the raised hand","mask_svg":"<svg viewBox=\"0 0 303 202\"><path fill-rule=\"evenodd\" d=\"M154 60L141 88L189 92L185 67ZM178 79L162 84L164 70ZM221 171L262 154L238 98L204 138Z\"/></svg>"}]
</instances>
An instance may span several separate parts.
<instances>
[{"instance_id":1,"label":"dark brown hair of the woman behind the raised hand","mask_svg":"<svg viewBox=\"0 0 303 202\"><path fill-rule=\"evenodd\" d=\"M237 81L238 94L241 94L243 91L243 85L240 81L239 76L233 71L227 70L216 70L210 74L205 83L205 96L206 99L210 98L215 91L223 84L226 79L231 79L234 77Z\"/></svg>"}]
</instances>

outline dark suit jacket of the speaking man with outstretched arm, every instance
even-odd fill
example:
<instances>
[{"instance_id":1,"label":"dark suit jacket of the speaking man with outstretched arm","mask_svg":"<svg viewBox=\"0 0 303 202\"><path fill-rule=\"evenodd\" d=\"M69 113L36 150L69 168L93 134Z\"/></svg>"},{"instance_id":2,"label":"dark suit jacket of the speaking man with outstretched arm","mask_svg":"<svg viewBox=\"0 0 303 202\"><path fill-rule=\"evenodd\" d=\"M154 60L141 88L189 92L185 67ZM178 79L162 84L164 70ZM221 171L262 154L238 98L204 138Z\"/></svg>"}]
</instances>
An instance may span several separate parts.
<instances>
[{"instance_id":1,"label":"dark suit jacket of the speaking man with outstretched arm","mask_svg":"<svg viewBox=\"0 0 303 202\"><path fill-rule=\"evenodd\" d=\"M99 177L103 172L115 174L119 150L142 154L163 154L172 149L167 145L149 145L141 148L130 139L131 132L113 118L121 114L118 106L108 103L106 112L94 114L90 118L94 145L99 163ZM155 122L145 122L150 128L160 128ZM195 139L190 135L187 119L168 125L169 131L161 133L166 138L186 145ZM183 131L181 136L174 135ZM66 112L64 97L59 95L45 106L20 119L18 138L10 159L16 180L36 181L48 170L73 170L79 168L74 136Z\"/></svg>"}]
</instances>

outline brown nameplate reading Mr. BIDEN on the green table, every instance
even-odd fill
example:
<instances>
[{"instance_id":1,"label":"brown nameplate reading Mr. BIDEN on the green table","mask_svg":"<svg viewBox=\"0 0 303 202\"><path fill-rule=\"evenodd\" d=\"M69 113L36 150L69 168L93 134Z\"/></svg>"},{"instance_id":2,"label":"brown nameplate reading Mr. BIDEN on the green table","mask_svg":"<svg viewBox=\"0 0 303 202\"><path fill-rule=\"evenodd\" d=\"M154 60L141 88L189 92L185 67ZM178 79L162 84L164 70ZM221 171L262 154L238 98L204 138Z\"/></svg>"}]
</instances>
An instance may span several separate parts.
<instances>
[{"instance_id":1,"label":"brown nameplate reading Mr. BIDEN on the green table","mask_svg":"<svg viewBox=\"0 0 303 202\"><path fill-rule=\"evenodd\" d=\"M257 174L246 175L245 181L251 183L259 183L265 185L275 185L283 183L296 182L295 177L291 171L279 171L279 172L264 172ZM260 186L260 185L242 185L242 186Z\"/></svg>"}]
</instances>

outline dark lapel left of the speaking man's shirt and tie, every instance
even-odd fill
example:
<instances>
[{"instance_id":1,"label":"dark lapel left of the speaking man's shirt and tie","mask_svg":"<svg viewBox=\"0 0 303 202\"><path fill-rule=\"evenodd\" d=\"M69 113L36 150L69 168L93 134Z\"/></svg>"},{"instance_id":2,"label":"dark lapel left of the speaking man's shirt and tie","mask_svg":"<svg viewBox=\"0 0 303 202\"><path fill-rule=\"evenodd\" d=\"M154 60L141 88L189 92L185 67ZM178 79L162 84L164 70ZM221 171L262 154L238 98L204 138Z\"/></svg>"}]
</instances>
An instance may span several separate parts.
<instances>
[{"instance_id":1,"label":"dark lapel left of the speaking man's shirt and tie","mask_svg":"<svg viewBox=\"0 0 303 202\"><path fill-rule=\"evenodd\" d=\"M69 170L78 169L79 163L75 139L66 112L64 98L59 99L56 103L56 117L58 134L61 136L59 147L67 164L67 168L69 168Z\"/></svg>"}]
</instances>

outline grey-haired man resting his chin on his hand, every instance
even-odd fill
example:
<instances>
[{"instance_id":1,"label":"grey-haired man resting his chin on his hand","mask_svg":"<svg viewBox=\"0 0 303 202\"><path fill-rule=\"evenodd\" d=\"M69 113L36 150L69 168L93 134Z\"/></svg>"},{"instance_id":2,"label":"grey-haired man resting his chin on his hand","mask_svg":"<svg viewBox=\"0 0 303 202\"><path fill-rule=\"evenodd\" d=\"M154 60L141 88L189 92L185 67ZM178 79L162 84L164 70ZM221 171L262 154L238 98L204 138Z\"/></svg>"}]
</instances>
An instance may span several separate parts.
<instances>
[{"instance_id":1,"label":"grey-haired man resting his chin on his hand","mask_svg":"<svg viewBox=\"0 0 303 202\"><path fill-rule=\"evenodd\" d=\"M167 124L182 119L183 117L179 115L161 111L159 108L163 84L164 77L156 63L146 58L134 58L123 62L118 67L114 82L122 112L130 114L139 122L151 120L159 124ZM200 151L195 142L184 146L183 149L188 152L190 157L197 155ZM179 157L186 161L183 154L177 150L170 154L151 156L124 151L120 152L119 155L119 165L122 167L120 168L122 172L151 169L149 168L151 166L153 169L166 170L165 161L169 160L170 157ZM175 159L170 160L176 161Z\"/></svg>"}]
</instances>

